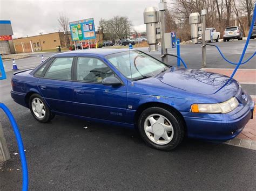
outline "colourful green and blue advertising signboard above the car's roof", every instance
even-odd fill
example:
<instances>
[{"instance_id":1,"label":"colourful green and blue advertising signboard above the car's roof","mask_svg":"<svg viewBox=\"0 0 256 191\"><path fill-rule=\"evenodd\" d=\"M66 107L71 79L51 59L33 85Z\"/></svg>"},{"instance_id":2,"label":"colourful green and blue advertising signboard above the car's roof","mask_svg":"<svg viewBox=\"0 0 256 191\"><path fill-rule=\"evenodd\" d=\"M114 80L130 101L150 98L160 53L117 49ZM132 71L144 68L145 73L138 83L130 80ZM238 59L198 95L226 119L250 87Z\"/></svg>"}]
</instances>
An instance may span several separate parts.
<instances>
[{"instance_id":1,"label":"colourful green and blue advertising signboard above the car's roof","mask_svg":"<svg viewBox=\"0 0 256 191\"><path fill-rule=\"evenodd\" d=\"M69 23L72 41L95 39L95 25L93 18Z\"/></svg>"}]
</instances>

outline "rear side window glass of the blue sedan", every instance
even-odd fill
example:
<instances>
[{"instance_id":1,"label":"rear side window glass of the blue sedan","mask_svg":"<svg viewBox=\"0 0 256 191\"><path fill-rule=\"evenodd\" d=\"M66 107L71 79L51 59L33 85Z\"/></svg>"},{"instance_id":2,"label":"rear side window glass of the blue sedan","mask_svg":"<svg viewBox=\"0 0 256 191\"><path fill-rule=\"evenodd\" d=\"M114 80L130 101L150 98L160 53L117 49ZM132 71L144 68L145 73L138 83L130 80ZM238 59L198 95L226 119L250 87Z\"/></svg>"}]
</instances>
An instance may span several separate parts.
<instances>
[{"instance_id":1,"label":"rear side window glass of the blue sedan","mask_svg":"<svg viewBox=\"0 0 256 191\"><path fill-rule=\"evenodd\" d=\"M51 63L44 77L60 80L71 80L73 58L56 58Z\"/></svg>"}]
</instances>

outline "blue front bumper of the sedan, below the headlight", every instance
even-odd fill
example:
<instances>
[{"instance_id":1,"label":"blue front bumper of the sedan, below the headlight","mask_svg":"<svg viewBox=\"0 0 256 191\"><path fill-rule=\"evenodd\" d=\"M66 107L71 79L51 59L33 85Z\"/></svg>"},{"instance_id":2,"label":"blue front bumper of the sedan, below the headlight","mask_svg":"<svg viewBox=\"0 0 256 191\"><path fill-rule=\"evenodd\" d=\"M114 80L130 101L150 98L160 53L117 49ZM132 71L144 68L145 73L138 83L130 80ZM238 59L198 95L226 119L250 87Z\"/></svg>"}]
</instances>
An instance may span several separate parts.
<instances>
[{"instance_id":1,"label":"blue front bumper of the sedan, below the headlight","mask_svg":"<svg viewBox=\"0 0 256 191\"><path fill-rule=\"evenodd\" d=\"M250 96L249 96L250 97ZM253 117L254 102L251 97L246 105L239 104L227 114L199 114L181 112L187 125L187 136L225 142L238 136Z\"/></svg>"}]
</instances>

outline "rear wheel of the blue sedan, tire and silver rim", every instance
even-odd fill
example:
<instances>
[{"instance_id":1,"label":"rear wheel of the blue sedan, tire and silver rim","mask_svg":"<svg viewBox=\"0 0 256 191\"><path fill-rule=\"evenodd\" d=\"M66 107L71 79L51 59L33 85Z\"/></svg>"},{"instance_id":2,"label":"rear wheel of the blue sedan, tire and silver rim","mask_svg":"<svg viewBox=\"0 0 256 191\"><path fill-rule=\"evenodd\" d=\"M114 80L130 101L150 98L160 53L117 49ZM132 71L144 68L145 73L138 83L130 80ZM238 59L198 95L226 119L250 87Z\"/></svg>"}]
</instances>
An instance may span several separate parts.
<instances>
[{"instance_id":1,"label":"rear wheel of the blue sedan, tire and silver rim","mask_svg":"<svg viewBox=\"0 0 256 191\"><path fill-rule=\"evenodd\" d=\"M37 106L37 105L39 105L39 106ZM39 107L42 107L42 109ZM33 117L35 117L35 119L40 123L50 122L51 119L53 119L55 117L55 114L53 114L50 111L48 105L44 102L44 99L38 94L32 94L30 96L29 108L30 108L30 112L33 115ZM41 109L41 111L39 111L40 109ZM43 114L43 110L44 110L44 114ZM40 116L40 114L41 114L41 116Z\"/></svg>"}]
</instances>

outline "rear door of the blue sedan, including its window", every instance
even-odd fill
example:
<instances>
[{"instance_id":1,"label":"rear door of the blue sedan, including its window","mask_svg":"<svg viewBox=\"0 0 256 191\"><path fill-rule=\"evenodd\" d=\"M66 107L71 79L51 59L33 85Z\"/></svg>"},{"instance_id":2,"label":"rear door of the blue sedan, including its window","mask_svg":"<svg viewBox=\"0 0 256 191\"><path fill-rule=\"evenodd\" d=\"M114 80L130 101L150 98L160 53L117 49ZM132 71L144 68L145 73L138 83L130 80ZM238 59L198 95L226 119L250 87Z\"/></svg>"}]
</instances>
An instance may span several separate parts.
<instances>
[{"instance_id":1,"label":"rear door of the blue sedan, including its window","mask_svg":"<svg viewBox=\"0 0 256 191\"><path fill-rule=\"evenodd\" d=\"M38 89L52 111L73 114L73 62L73 56L57 57L39 78Z\"/></svg>"}]
</instances>

